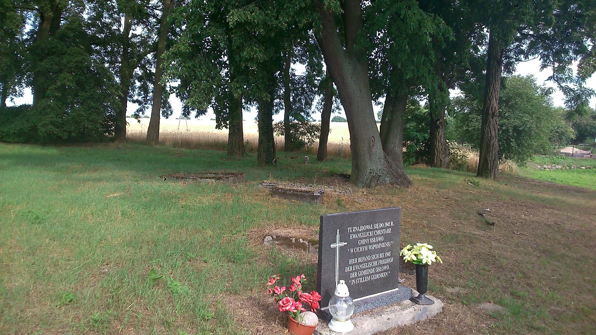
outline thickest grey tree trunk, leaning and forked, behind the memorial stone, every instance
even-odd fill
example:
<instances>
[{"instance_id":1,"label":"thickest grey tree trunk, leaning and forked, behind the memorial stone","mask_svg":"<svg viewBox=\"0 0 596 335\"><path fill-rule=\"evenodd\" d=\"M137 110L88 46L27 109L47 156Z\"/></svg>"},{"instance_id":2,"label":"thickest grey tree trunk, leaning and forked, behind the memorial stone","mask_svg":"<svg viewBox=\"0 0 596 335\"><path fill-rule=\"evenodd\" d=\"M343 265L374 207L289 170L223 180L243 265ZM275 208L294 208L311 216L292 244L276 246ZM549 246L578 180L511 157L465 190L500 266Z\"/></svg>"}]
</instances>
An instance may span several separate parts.
<instances>
[{"instance_id":1,"label":"thickest grey tree trunk, leaning and forked, behind the memorial stone","mask_svg":"<svg viewBox=\"0 0 596 335\"><path fill-rule=\"evenodd\" d=\"M368 82L367 57L355 49L358 33L364 26L360 0L342 3L345 49L337 33L334 14L321 1L316 1L316 6L322 21L322 29L317 36L318 44L337 87L350 131L350 181L364 187L383 184L408 187L410 181L405 178L405 172L392 166L381 146Z\"/></svg>"}]
</instances>

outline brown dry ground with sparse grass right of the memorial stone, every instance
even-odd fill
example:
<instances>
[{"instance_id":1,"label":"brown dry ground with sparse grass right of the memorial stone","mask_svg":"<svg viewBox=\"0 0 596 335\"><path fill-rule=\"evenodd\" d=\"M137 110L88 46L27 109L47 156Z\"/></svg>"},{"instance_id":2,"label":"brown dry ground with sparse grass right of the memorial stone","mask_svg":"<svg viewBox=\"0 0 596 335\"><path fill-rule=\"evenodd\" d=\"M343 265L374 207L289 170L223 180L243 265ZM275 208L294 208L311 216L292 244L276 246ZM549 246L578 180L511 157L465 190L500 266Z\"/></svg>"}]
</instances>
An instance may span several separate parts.
<instances>
[{"instance_id":1,"label":"brown dry ground with sparse grass right of the memorial stone","mask_svg":"<svg viewBox=\"0 0 596 335\"><path fill-rule=\"evenodd\" d=\"M385 186L323 198L330 213L403 207L402 246L429 242L445 260L430 268L429 288L429 294L445 303L443 313L383 334L589 334L585 322L594 321L596 308L596 264L589 251L596 250L594 193L509 175L500 182L483 181L480 187L468 185L463 176L446 177L452 184L443 188L413 176L409 190ZM486 208L492 211L494 230L477 213ZM415 287L413 274L400 277ZM577 296L586 299L577 302ZM508 312L488 312L480 308L482 303ZM269 306L273 304L266 300L263 308L268 309L259 311L262 318L244 319L249 330L282 331L279 313Z\"/></svg>"}]
</instances>

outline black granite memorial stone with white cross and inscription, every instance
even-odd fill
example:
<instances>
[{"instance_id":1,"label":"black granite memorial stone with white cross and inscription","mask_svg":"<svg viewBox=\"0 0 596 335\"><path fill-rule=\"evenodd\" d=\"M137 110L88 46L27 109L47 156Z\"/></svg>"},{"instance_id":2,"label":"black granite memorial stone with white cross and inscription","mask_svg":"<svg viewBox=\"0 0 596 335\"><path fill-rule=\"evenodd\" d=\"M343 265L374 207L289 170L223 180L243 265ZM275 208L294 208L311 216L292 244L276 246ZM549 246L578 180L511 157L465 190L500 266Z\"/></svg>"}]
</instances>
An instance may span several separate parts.
<instances>
[{"instance_id":1,"label":"black granite memorial stone with white cross and inscription","mask_svg":"<svg viewBox=\"0 0 596 335\"><path fill-rule=\"evenodd\" d=\"M401 207L321 215L318 291L325 315L336 284L344 280L355 313L409 299L399 285Z\"/></svg>"}]
</instances>

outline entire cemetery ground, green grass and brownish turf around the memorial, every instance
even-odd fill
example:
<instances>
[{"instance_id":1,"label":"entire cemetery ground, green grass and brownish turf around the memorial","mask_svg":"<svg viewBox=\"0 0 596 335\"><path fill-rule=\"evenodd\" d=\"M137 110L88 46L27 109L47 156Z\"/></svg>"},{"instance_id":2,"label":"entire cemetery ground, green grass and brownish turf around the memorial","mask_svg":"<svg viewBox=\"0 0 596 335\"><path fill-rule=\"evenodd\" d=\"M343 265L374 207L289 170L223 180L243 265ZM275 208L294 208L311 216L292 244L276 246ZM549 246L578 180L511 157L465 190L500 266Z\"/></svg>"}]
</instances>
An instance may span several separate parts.
<instances>
[{"instance_id":1,"label":"entire cemetery ground, green grass and brownish turf around the memorial","mask_svg":"<svg viewBox=\"0 0 596 335\"><path fill-rule=\"evenodd\" d=\"M389 206L403 206L402 244L428 241L445 260L430 274L430 293L446 305L424 324L429 333L596 331L594 193L413 167L409 190L325 194L322 206L271 200L259 181L317 183L350 171L347 159L303 165L293 155L278 153L279 166L262 168L254 153L0 144L0 334L283 333L272 303L263 303L272 311L258 310L261 324L238 320L237 309L254 308L250 299L262 297L269 275L313 278L316 265L265 249L254 231L314 228L324 213ZM248 182L157 177L215 170L246 172ZM495 231L476 214L486 207ZM510 314L488 315L480 302ZM387 334L398 333L420 334Z\"/></svg>"}]
</instances>

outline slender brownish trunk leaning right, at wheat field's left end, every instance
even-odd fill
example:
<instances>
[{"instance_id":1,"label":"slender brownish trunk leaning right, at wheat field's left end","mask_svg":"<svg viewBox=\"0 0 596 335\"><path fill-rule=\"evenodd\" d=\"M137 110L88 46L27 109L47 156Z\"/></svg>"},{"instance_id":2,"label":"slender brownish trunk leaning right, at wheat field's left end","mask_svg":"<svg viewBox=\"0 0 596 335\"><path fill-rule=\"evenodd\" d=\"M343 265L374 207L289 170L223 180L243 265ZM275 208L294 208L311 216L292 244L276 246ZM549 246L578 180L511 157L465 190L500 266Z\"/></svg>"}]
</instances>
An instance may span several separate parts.
<instances>
[{"instance_id":1,"label":"slender brownish trunk leaning right, at wheat field's left end","mask_svg":"<svg viewBox=\"0 0 596 335\"><path fill-rule=\"evenodd\" d=\"M159 121L162 112L163 99L163 85L161 84L163 75L163 52L166 51L167 31L169 24L167 24L167 16L170 15L170 10L174 5L173 0L163 0L162 21L159 27L159 39L157 41L156 68L155 68L155 83L153 85L153 106L151 106L151 120L149 121L149 128L147 129L147 143L159 143Z\"/></svg>"}]
</instances>

